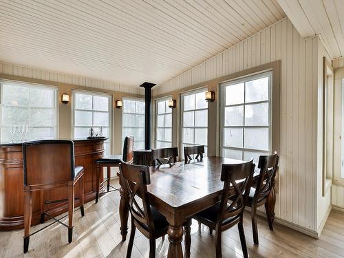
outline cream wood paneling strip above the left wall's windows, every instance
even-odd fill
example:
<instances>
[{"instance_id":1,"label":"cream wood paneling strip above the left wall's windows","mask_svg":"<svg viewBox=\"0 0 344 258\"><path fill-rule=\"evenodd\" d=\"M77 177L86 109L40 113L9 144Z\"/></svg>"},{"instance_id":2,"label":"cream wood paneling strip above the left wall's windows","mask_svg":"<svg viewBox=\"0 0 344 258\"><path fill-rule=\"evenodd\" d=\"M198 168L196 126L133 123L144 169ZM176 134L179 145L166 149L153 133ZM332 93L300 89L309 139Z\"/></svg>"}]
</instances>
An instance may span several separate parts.
<instances>
[{"instance_id":1,"label":"cream wood paneling strip above the left wall's windows","mask_svg":"<svg viewBox=\"0 0 344 258\"><path fill-rule=\"evenodd\" d=\"M218 64L218 66L220 66ZM72 74L63 74L58 72L52 72L41 69L34 69L30 67L22 67L20 65L12 65L9 63L0 63L0 74L9 74L14 76L21 76L26 78L35 78L39 80L48 80L51 82L67 83L72 85L80 85L86 87L95 87L100 89L110 89L117 92L128 92L132 94L143 94L143 90L140 87L132 87L123 84L114 84L110 87L110 82L105 80L97 80L92 78L86 78L81 76L75 76ZM186 80L185 85L191 84L191 72L186 72L189 80ZM0 76L1 78L1 76Z\"/></svg>"}]
</instances>

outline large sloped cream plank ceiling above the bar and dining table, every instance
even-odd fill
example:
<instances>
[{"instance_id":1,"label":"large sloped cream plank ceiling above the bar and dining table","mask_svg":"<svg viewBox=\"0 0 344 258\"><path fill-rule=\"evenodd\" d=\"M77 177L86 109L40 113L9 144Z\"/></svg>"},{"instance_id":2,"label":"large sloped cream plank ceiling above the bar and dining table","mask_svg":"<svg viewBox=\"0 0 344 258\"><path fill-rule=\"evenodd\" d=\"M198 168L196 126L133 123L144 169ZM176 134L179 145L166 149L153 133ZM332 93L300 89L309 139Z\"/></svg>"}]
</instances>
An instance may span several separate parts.
<instances>
[{"instance_id":1,"label":"large sloped cream plank ceiling above the bar and dining table","mask_svg":"<svg viewBox=\"0 0 344 258\"><path fill-rule=\"evenodd\" d=\"M0 61L160 84L285 16L276 0L0 0Z\"/></svg>"}]
</instances>

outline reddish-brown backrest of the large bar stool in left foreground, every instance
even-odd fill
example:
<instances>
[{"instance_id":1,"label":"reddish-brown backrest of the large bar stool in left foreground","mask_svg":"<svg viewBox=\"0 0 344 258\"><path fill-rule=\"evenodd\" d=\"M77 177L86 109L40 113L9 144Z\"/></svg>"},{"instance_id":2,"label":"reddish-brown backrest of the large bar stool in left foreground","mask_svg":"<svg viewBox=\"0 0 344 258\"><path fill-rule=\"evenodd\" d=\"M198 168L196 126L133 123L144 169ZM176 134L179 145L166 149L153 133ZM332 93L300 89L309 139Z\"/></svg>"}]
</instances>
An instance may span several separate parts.
<instances>
[{"instance_id":1,"label":"reddish-brown backrest of the large bar stool in left foreground","mask_svg":"<svg viewBox=\"0 0 344 258\"><path fill-rule=\"evenodd\" d=\"M70 140L23 142L24 186L74 180L74 143Z\"/></svg>"}]
</instances>

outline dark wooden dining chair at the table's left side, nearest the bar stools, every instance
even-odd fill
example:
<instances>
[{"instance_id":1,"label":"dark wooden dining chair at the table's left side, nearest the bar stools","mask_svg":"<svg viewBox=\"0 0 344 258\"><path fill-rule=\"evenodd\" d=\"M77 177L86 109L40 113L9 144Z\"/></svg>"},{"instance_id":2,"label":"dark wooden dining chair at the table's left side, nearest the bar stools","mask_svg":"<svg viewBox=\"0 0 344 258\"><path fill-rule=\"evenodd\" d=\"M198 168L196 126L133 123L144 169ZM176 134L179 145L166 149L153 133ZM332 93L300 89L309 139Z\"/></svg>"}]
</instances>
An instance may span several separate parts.
<instances>
[{"instance_id":1,"label":"dark wooden dining chair at the table's left side, nearest the bar stools","mask_svg":"<svg viewBox=\"0 0 344 258\"><path fill-rule=\"evenodd\" d=\"M126 203L131 213L131 234L127 258L131 257L136 228L149 239L149 258L155 257L155 239L167 234L169 223L164 215L149 204L147 184L150 184L149 166L120 164L120 177Z\"/></svg>"}]
</instances>

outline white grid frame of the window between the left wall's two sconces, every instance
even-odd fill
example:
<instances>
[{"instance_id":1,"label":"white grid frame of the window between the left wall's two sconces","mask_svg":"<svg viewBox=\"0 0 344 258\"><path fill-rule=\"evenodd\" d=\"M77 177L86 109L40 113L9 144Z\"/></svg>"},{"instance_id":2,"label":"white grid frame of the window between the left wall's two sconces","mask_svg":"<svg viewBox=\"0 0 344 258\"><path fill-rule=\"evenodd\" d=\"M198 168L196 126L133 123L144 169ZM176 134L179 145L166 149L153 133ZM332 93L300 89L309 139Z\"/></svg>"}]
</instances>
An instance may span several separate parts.
<instances>
[{"instance_id":1,"label":"white grid frame of the window between the left wall's two sconces","mask_svg":"<svg viewBox=\"0 0 344 258\"><path fill-rule=\"evenodd\" d=\"M76 94L83 94L83 95L91 95L92 96L92 109L76 109ZM109 98L109 111L100 111L100 110L94 110L94 96L99 97L107 97ZM92 127L100 127L100 126L94 126L94 112L101 112L101 113L109 113L109 138L105 140L104 143L109 143L109 154L113 152L113 137L112 137L112 128L113 128L113 116L112 116L112 95L111 94L105 94L101 92L89 92L79 89L72 89L72 137L75 138L75 127L79 128L89 128L89 126L76 126L75 125L75 111L90 111L92 112ZM79 139L79 138L78 138Z\"/></svg>"}]
</instances>

